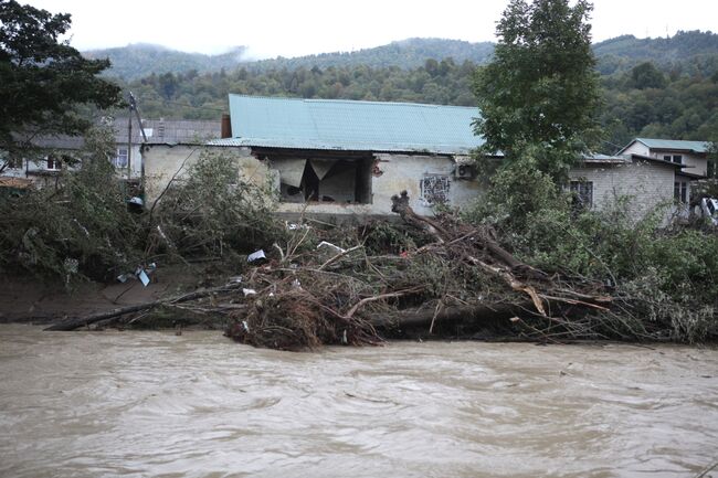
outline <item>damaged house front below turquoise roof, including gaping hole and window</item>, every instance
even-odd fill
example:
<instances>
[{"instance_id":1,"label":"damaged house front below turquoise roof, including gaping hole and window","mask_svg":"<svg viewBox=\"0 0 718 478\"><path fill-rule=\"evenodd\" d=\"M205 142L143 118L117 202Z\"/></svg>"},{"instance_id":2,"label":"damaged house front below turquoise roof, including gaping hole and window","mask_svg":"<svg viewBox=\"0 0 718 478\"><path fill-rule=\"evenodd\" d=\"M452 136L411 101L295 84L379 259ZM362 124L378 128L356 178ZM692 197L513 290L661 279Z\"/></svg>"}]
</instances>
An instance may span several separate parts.
<instances>
[{"instance_id":1,"label":"damaged house front below turquoise roof, including gaping hole and window","mask_svg":"<svg viewBox=\"0 0 718 478\"><path fill-rule=\"evenodd\" d=\"M260 161L252 156L253 151L245 147L154 145L147 148L142 156L147 203L151 204L157 199L182 163L187 169L197 161L202 151L235 156L240 161L240 173L245 179L257 184L265 184L271 180L277 193L282 191L288 194L288 188L293 187L288 183L299 184L299 171L305 167L303 161ZM306 160L313 158L307 157ZM324 164L324 169L327 169L327 166ZM457 179L454 174L456 164L445 156L377 153L374 160L357 160L356 170L350 164L345 166L332 170L334 173L329 173L327 169L321 182L321 195L330 196L332 201L310 201L306 206L307 213L392 215L391 196L406 190L414 211L431 215L432 203L440 198L447 199L451 206L462 206L484 191L476 179ZM323 164L315 161L313 170L318 170L321 174ZM281 180L281 177L284 180ZM285 196L278 203L278 212L283 213L302 213L304 209L305 201L300 194L294 194L292 199Z\"/></svg>"}]
</instances>

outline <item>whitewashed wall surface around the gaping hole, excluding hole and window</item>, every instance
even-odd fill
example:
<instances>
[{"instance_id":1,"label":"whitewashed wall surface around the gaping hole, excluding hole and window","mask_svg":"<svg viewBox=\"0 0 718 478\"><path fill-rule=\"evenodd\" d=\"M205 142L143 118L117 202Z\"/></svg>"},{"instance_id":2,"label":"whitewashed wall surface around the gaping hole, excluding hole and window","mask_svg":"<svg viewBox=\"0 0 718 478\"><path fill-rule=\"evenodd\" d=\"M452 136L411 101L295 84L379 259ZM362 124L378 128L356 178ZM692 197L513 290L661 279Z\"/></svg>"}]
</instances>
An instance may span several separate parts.
<instances>
[{"instance_id":1,"label":"whitewashed wall surface around the gaping hole, excluding hole and window","mask_svg":"<svg viewBox=\"0 0 718 478\"><path fill-rule=\"evenodd\" d=\"M162 192L176 171L187 168L200 157L201 152L220 151L232 155L240 160L240 173L256 183L266 183L267 180L277 182L275 174L267 164L252 156L250 148L231 147L190 147L190 146L150 146L142 155L145 162L146 199L151 204ZM421 183L426 176L446 177L448 191L446 192L450 206L466 205L475 200L482 192L482 187L476 180L456 179L454 177L454 161L448 157L439 156L409 156L409 155L376 155L377 162L372 173L371 202L367 204L347 204L340 202L313 202L306 206L304 203L279 202L278 212L296 214L320 214L324 216L342 216L348 214L359 216L392 215L391 196L406 190L411 206L419 214L432 214L431 204L422 199Z\"/></svg>"}]
</instances>

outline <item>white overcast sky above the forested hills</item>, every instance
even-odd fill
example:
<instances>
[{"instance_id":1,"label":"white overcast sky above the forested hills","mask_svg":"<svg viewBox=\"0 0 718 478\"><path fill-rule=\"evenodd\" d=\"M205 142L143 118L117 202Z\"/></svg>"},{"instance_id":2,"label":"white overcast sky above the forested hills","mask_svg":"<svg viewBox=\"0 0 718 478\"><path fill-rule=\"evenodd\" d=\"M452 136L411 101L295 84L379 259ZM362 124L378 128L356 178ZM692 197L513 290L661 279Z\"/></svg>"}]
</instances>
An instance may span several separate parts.
<instances>
[{"instance_id":1,"label":"white overcast sky above the forested hills","mask_svg":"<svg viewBox=\"0 0 718 478\"><path fill-rule=\"evenodd\" d=\"M508 0L19 0L72 13L78 50L155 43L221 53L245 45L256 57L352 51L413 36L495 41ZM593 41L621 34L717 30L718 0L594 0Z\"/></svg>"}]
</instances>

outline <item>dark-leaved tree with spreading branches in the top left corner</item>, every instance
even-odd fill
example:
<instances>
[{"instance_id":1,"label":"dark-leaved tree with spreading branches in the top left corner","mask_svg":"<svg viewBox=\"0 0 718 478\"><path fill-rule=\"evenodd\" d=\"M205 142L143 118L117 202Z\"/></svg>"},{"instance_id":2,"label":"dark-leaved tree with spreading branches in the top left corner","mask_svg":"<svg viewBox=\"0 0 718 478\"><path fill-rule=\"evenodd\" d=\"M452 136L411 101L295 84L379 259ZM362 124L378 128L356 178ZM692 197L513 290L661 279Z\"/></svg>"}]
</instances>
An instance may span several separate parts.
<instances>
[{"instance_id":1,"label":"dark-leaved tree with spreading branches in the top left corner","mask_svg":"<svg viewBox=\"0 0 718 478\"><path fill-rule=\"evenodd\" d=\"M10 158L33 135L83 134L92 121L80 107L120 103L119 87L97 77L109 62L59 41L70 23L70 14L0 0L0 150Z\"/></svg>"}]
</instances>

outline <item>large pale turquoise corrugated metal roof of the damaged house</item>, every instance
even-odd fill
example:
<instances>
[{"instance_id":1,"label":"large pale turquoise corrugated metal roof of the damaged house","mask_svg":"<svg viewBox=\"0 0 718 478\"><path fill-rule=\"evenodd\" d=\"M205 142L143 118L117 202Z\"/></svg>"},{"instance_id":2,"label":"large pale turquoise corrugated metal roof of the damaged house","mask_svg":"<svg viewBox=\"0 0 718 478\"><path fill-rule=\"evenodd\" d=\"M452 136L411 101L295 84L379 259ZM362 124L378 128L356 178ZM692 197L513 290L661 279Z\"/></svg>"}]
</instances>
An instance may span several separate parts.
<instances>
[{"instance_id":1,"label":"large pale turquoise corrugated metal roof of the damaged house","mask_svg":"<svg viewBox=\"0 0 718 478\"><path fill-rule=\"evenodd\" d=\"M224 146L461 155L477 108L230 95L232 138Z\"/></svg>"}]
</instances>

